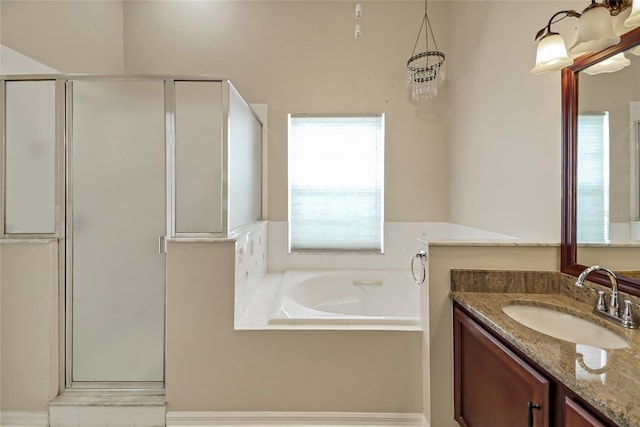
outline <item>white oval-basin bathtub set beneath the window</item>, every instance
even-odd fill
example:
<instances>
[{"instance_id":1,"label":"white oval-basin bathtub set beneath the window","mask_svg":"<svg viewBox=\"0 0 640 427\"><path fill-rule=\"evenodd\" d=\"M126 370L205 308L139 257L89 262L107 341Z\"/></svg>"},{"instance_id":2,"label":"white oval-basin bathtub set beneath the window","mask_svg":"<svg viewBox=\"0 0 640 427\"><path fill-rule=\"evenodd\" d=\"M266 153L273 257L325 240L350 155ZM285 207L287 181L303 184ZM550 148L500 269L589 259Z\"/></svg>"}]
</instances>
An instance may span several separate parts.
<instances>
[{"instance_id":1,"label":"white oval-basin bathtub set beneath the window","mask_svg":"<svg viewBox=\"0 0 640 427\"><path fill-rule=\"evenodd\" d=\"M420 287L405 270L288 270L270 324L420 329Z\"/></svg>"}]
</instances>

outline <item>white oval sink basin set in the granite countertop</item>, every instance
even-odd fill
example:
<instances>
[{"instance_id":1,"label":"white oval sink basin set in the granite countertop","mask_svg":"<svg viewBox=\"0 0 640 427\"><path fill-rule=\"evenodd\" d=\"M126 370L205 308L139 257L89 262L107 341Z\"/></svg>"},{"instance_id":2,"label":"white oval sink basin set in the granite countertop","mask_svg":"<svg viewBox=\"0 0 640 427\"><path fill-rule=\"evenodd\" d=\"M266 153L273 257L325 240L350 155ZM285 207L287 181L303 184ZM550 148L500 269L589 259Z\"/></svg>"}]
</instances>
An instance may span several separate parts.
<instances>
[{"instance_id":1,"label":"white oval sink basin set in the granite countertop","mask_svg":"<svg viewBox=\"0 0 640 427\"><path fill-rule=\"evenodd\" d=\"M511 304L502 311L524 326L561 340L608 349L629 346L627 340L610 330L553 308Z\"/></svg>"}]
</instances>

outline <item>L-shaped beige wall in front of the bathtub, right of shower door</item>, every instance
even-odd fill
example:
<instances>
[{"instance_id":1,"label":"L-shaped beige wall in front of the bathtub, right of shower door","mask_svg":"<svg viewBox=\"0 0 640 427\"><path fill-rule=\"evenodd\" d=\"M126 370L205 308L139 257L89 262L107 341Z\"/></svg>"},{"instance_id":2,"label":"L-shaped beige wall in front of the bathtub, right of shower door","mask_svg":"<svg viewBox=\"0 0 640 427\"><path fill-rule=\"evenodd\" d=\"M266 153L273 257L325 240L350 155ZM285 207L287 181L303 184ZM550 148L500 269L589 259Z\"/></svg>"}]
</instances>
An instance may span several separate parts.
<instances>
[{"instance_id":1,"label":"L-shaped beige wall in front of the bathtub, right of shower door","mask_svg":"<svg viewBox=\"0 0 640 427\"><path fill-rule=\"evenodd\" d=\"M169 244L168 411L421 412L419 332L234 331L233 256Z\"/></svg>"}]
</instances>

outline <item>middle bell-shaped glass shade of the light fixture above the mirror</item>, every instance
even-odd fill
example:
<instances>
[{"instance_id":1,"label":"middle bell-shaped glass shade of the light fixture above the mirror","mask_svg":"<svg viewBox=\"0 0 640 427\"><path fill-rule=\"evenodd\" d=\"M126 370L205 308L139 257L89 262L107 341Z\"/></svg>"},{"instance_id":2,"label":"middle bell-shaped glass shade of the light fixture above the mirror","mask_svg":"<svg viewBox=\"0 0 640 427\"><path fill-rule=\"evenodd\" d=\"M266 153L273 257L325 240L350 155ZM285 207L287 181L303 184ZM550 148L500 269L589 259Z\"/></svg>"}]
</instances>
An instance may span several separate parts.
<instances>
[{"instance_id":1,"label":"middle bell-shaped glass shade of the light fixture above the mirror","mask_svg":"<svg viewBox=\"0 0 640 427\"><path fill-rule=\"evenodd\" d=\"M578 21L578 38L569 48L573 55L596 52L620 42L620 36L613 32L609 10L596 5L588 7Z\"/></svg>"}]
</instances>

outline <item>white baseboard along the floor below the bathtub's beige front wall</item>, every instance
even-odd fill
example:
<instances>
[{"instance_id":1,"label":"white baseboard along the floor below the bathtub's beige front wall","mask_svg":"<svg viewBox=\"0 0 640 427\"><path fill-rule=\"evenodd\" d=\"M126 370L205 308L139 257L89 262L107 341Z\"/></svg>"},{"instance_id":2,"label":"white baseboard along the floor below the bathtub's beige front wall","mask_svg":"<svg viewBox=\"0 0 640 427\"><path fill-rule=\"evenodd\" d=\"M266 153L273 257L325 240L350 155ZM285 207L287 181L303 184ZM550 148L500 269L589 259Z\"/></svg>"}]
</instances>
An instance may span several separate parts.
<instances>
[{"instance_id":1,"label":"white baseboard along the floor below the bathtub's beige front wall","mask_svg":"<svg viewBox=\"0 0 640 427\"><path fill-rule=\"evenodd\" d=\"M421 413L376 412L167 412L167 427L228 426L429 427Z\"/></svg>"}]
</instances>

